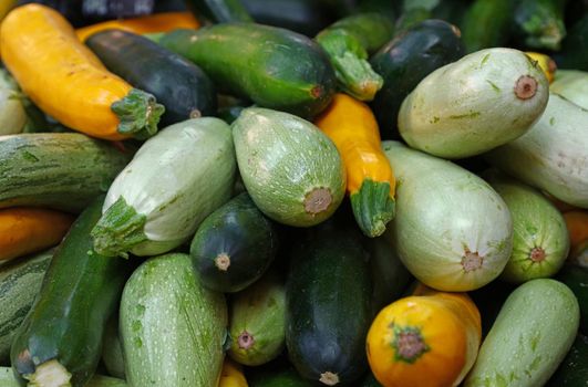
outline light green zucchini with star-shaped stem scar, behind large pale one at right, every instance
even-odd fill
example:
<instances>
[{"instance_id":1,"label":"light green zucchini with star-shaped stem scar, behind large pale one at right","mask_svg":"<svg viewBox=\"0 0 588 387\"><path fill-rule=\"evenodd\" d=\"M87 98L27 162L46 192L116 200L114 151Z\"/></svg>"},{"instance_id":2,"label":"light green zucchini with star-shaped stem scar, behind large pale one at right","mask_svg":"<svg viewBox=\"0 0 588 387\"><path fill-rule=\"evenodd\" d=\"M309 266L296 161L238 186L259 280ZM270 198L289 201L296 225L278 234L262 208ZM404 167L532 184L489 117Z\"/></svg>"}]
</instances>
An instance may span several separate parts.
<instances>
[{"instance_id":1,"label":"light green zucchini with star-shaped stem scar, behind large pale one at right","mask_svg":"<svg viewBox=\"0 0 588 387\"><path fill-rule=\"evenodd\" d=\"M540 192L516 180L493 177L489 182L513 218L513 254L502 279L522 283L557 273L569 251L561 212Z\"/></svg>"}]
</instances>

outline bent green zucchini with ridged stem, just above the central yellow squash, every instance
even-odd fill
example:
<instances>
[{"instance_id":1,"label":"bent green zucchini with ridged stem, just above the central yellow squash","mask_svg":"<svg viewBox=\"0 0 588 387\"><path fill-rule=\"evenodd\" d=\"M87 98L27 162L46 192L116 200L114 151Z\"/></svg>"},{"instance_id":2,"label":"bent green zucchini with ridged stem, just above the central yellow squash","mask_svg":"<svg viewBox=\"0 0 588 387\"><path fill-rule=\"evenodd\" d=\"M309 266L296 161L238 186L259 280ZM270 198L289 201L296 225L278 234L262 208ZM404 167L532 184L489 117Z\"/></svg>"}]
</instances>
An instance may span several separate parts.
<instances>
[{"instance_id":1,"label":"bent green zucchini with ridged stem, just above the central yellow squash","mask_svg":"<svg viewBox=\"0 0 588 387\"><path fill-rule=\"evenodd\" d=\"M383 80L368 62L369 53L392 38L394 24L379 13L358 13L337 21L316 38L334 67L339 87L360 101L372 101Z\"/></svg>"}]
</instances>

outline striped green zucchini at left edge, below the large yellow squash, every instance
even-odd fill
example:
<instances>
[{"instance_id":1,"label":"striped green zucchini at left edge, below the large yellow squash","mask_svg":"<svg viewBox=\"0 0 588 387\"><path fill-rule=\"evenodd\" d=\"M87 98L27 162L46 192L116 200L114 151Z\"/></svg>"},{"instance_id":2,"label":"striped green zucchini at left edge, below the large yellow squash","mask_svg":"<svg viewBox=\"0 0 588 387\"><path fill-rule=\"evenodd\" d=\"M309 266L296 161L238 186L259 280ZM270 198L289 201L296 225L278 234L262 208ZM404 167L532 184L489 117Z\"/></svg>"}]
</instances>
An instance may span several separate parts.
<instances>
[{"instance_id":1,"label":"striped green zucchini at left edge, below the large yellow squash","mask_svg":"<svg viewBox=\"0 0 588 387\"><path fill-rule=\"evenodd\" d=\"M41 206L80 212L106 191L131 157L82 134L1 136L0 208Z\"/></svg>"}]
</instances>

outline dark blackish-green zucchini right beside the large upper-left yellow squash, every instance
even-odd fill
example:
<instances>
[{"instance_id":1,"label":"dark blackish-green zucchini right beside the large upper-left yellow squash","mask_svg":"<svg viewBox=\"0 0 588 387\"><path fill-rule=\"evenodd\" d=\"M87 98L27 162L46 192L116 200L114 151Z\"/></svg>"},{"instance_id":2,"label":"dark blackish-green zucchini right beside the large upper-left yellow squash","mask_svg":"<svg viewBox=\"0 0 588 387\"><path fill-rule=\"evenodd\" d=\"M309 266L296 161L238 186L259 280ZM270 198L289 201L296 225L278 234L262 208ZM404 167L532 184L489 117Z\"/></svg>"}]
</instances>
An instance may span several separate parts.
<instances>
[{"instance_id":1,"label":"dark blackish-green zucchini right beside the large upper-left yellow squash","mask_svg":"<svg viewBox=\"0 0 588 387\"><path fill-rule=\"evenodd\" d=\"M162 125L215 113L216 94L210 79L194 63L147 38L106 30L91 35L85 44L114 74L155 95L165 106Z\"/></svg>"}]
</instances>

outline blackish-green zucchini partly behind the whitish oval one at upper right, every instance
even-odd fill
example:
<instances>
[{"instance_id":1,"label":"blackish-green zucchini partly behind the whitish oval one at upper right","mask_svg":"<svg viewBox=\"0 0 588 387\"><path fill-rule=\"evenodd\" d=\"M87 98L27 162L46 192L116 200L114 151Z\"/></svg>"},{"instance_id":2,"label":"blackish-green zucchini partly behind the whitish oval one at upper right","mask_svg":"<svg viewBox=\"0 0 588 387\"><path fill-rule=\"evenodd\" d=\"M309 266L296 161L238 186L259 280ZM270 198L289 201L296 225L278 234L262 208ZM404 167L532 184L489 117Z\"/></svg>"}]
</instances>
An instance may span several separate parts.
<instances>
[{"instance_id":1,"label":"blackish-green zucchini partly behind the whitish oval one at upper right","mask_svg":"<svg viewBox=\"0 0 588 387\"><path fill-rule=\"evenodd\" d=\"M372 107L383 139L400 138L396 130L402 101L434 70L465 53L455 25L425 20L395 38L375 53L370 63L384 79Z\"/></svg>"}]
</instances>

